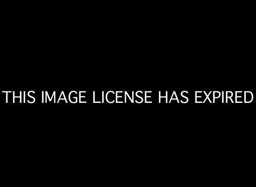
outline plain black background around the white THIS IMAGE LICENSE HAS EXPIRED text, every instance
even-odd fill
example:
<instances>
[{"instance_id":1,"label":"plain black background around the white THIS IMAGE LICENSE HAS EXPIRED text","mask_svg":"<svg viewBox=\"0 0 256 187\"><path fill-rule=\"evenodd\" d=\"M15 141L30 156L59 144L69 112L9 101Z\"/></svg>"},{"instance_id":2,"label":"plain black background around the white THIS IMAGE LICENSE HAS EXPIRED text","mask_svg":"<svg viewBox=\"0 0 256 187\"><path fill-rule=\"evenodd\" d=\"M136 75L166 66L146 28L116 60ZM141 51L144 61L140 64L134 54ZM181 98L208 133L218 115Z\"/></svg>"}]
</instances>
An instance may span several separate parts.
<instances>
[{"instance_id":1,"label":"plain black background around the white THIS IMAGE LICENSE HAS EXPIRED text","mask_svg":"<svg viewBox=\"0 0 256 187\"><path fill-rule=\"evenodd\" d=\"M152 90L154 104L2 102L5 176L131 184L250 178L255 101L196 105L193 96L255 94L247 7L42 7L3 13L1 91ZM157 104L157 91L183 90L187 105Z\"/></svg>"}]
</instances>

